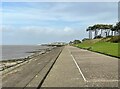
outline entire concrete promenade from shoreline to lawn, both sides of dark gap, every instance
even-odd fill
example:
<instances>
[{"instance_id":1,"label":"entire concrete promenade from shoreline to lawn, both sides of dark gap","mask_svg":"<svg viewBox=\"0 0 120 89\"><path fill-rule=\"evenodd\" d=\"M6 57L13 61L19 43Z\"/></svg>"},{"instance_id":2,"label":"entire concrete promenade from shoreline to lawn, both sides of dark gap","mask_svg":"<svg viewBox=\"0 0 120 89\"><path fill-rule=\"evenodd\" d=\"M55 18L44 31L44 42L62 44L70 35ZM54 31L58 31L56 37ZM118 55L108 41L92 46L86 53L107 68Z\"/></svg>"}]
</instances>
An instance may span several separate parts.
<instances>
[{"instance_id":1,"label":"entire concrete promenade from shoreline to lawn, both sides of dark gap","mask_svg":"<svg viewBox=\"0 0 120 89\"><path fill-rule=\"evenodd\" d=\"M3 75L2 85L21 89L118 87L118 60L72 46L57 47Z\"/></svg>"}]
</instances>

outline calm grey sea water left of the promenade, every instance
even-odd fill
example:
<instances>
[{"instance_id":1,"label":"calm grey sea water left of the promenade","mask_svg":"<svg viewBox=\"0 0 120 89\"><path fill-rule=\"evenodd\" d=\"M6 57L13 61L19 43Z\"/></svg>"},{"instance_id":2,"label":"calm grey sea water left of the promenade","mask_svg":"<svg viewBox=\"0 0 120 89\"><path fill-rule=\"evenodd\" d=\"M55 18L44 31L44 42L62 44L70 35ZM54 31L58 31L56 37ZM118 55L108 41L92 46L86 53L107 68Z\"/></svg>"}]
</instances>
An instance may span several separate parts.
<instances>
[{"instance_id":1,"label":"calm grey sea water left of the promenade","mask_svg":"<svg viewBox=\"0 0 120 89\"><path fill-rule=\"evenodd\" d=\"M48 48L40 45L2 45L2 59L17 59L24 58L31 55L32 51L42 50Z\"/></svg>"}]
</instances>

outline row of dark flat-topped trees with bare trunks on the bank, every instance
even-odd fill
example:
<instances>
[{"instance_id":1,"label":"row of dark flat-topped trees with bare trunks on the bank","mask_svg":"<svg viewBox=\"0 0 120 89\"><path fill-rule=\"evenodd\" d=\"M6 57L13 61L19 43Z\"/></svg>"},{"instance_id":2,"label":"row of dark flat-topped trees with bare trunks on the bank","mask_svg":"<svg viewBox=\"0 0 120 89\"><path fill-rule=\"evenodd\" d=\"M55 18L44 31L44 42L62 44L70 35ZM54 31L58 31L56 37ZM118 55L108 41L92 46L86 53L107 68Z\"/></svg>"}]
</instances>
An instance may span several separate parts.
<instances>
[{"instance_id":1,"label":"row of dark flat-topped trees with bare trunks on the bank","mask_svg":"<svg viewBox=\"0 0 120 89\"><path fill-rule=\"evenodd\" d=\"M115 26L111 24L95 24L89 26L86 31L89 31L89 39L120 35L120 22L116 23ZM92 36L93 32L94 37Z\"/></svg>"}]
</instances>

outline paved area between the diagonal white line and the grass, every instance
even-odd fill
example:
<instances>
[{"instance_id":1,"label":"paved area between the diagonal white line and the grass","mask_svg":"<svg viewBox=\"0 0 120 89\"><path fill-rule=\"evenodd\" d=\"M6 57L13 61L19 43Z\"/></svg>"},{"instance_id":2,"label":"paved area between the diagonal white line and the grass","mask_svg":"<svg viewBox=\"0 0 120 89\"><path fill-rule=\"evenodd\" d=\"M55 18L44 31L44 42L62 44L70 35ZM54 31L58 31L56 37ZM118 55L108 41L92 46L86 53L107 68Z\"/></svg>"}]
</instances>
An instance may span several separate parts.
<instances>
[{"instance_id":1,"label":"paved area between the diagonal white line and the grass","mask_svg":"<svg viewBox=\"0 0 120 89\"><path fill-rule=\"evenodd\" d=\"M89 87L118 87L118 61L120 59L69 47Z\"/></svg>"}]
</instances>

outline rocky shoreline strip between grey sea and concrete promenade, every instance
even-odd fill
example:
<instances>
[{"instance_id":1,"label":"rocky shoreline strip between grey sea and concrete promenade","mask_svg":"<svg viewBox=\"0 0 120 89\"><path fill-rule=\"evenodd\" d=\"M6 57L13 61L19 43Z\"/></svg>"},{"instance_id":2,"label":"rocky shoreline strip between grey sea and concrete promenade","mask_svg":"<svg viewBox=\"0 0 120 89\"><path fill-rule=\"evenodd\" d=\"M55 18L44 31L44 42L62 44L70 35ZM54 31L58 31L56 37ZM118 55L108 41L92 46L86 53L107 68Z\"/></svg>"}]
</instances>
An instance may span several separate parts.
<instances>
[{"instance_id":1,"label":"rocky shoreline strip between grey sea and concrete promenade","mask_svg":"<svg viewBox=\"0 0 120 89\"><path fill-rule=\"evenodd\" d=\"M31 55L26 56L24 58L13 58L13 59L6 59L6 60L1 60L0 61L0 71L5 71L6 69L10 69L10 68L14 68L15 66L19 66L24 64L25 62L29 62L32 58L38 56L38 55L42 55L45 53L48 53L49 51L51 51L52 49L54 49L55 47L49 47L46 49L41 49L41 50L37 50L37 51L31 51Z\"/></svg>"}]
</instances>

